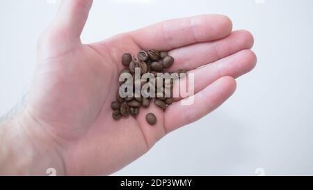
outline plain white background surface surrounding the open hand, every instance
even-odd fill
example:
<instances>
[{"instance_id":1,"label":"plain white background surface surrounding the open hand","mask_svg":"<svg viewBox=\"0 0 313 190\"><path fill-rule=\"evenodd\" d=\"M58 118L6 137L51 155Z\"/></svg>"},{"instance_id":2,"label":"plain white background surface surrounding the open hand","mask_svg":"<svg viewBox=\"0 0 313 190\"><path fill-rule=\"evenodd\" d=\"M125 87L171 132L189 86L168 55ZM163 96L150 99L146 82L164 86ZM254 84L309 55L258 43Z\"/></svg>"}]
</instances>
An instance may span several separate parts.
<instances>
[{"instance_id":1,"label":"plain white background surface surrounding the open hand","mask_svg":"<svg viewBox=\"0 0 313 190\"><path fill-rule=\"evenodd\" d=\"M0 0L0 115L29 89L36 41L58 8L47 2L53 0ZM312 8L311 0L95 0L83 42L163 19L220 13L234 29L255 35L258 56L257 68L238 79L220 109L115 175L256 175L257 168L313 175Z\"/></svg>"}]
</instances>

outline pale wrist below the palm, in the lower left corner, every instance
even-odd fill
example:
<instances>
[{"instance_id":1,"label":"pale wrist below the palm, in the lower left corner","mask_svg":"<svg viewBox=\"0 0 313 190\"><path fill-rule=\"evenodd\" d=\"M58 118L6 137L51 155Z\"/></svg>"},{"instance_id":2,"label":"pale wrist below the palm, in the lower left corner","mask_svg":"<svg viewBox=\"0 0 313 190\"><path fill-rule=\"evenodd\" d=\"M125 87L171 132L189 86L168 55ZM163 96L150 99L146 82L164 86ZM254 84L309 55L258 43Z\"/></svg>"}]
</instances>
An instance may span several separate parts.
<instances>
[{"instance_id":1,"label":"pale wrist below the palm, in the lower left corner","mask_svg":"<svg viewBox=\"0 0 313 190\"><path fill-rule=\"evenodd\" d=\"M26 112L0 127L0 175L65 175L61 148Z\"/></svg>"}]
</instances>

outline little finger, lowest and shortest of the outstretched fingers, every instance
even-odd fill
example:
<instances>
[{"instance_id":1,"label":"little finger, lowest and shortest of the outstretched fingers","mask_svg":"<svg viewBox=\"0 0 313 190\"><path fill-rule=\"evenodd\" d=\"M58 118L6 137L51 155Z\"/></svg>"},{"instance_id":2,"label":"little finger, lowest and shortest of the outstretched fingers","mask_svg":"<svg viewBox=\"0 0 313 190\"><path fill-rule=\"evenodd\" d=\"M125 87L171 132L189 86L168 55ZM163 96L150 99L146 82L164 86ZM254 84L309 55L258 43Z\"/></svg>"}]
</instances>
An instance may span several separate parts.
<instances>
[{"instance_id":1,"label":"little finger, lowest and shortest of the outstretched fingers","mask_svg":"<svg viewBox=\"0 0 313 190\"><path fill-rule=\"evenodd\" d=\"M188 125L191 122L199 120L214 109L223 104L236 89L236 81L232 77L222 77L213 84L204 88L193 95L194 102L190 105L182 105L180 102L175 102L168 106L164 114L164 127L166 133Z\"/></svg>"}]
</instances>

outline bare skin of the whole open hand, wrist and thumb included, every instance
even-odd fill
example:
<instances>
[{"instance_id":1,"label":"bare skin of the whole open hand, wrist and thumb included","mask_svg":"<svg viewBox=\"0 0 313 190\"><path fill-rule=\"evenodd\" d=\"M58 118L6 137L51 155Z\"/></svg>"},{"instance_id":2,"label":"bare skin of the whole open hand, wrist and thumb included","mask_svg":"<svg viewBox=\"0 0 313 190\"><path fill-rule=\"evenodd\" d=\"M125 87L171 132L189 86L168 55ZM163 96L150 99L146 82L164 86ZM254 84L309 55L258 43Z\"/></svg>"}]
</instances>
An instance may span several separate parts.
<instances>
[{"instance_id":1,"label":"bare skin of the whole open hand, wrist and thumb included","mask_svg":"<svg viewBox=\"0 0 313 190\"><path fill-rule=\"evenodd\" d=\"M145 154L163 136L206 116L256 64L252 35L232 31L223 15L199 15L147 26L83 45L90 0L65 0L38 42L38 65L26 109L0 128L0 175L110 175ZM195 73L195 102L166 114L154 104L139 116L113 120L121 56L169 51L170 70ZM195 56L196 55L196 56ZM208 64L209 63L209 64ZM199 68L200 66L203 66ZM154 113L158 122L145 121Z\"/></svg>"}]
</instances>

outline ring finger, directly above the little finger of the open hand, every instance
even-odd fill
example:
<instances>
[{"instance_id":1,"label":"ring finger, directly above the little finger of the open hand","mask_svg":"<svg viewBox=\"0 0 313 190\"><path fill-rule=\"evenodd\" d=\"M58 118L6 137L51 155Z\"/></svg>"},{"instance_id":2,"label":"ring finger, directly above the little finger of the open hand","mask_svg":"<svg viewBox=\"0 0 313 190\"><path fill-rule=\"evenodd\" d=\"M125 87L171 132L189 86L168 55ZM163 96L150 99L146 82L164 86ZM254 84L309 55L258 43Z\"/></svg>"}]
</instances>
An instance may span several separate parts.
<instances>
[{"instance_id":1,"label":"ring finger, directly above the little finger of the open hand","mask_svg":"<svg viewBox=\"0 0 313 190\"><path fill-rule=\"evenodd\" d=\"M231 56L220 59L214 63L206 65L202 68L191 70L188 73L194 74L194 93L198 93L217 79L230 76L234 79L241 77L243 74L250 72L257 63L257 56L249 49L242 50ZM179 85L175 84L174 89L179 86L188 85L186 78L179 81ZM175 98L175 101L182 100L182 96Z\"/></svg>"}]
</instances>

